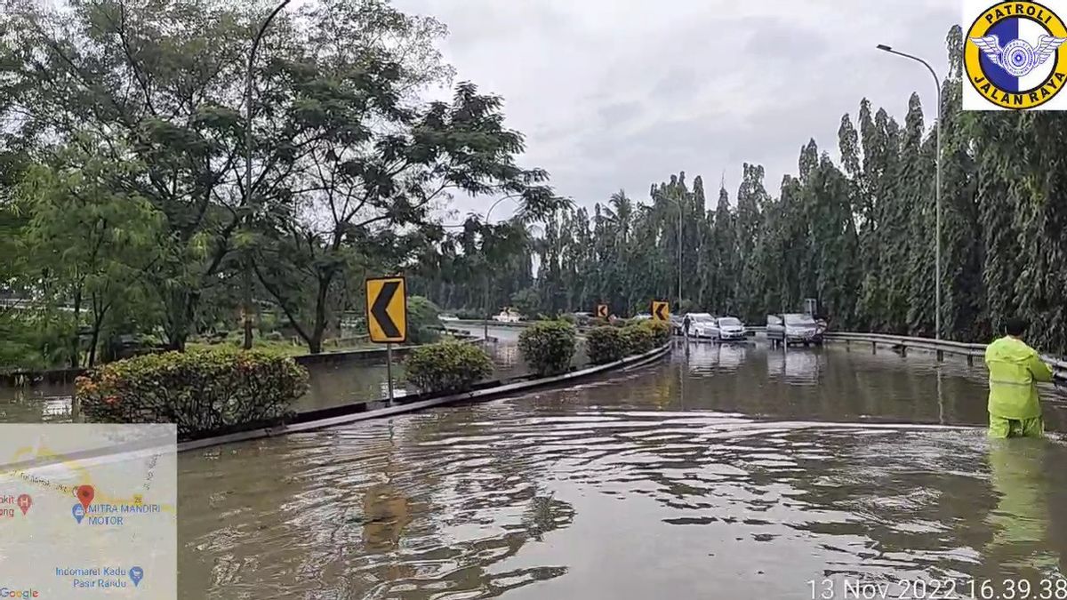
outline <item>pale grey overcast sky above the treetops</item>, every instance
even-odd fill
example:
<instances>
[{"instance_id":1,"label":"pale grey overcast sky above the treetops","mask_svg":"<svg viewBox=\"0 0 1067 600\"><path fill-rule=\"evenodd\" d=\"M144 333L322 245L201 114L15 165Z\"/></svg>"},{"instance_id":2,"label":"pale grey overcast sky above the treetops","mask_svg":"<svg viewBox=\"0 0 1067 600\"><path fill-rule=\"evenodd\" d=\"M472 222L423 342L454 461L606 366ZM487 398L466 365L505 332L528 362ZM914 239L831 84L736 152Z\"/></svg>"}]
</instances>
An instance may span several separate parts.
<instances>
[{"instance_id":1,"label":"pale grey overcast sky above the treetops","mask_svg":"<svg viewBox=\"0 0 1067 600\"><path fill-rule=\"evenodd\" d=\"M651 183L679 171L703 176L711 207L724 171L733 202L743 162L763 164L777 195L809 138L838 158L841 115L855 117L864 96L903 121L918 91L930 124L933 78L875 45L943 77L961 13L952 0L394 2L448 26L457 81L504 96L508 125L526 136L523 163L587 206L619 188L647 201Z\"/></svg>"}]
</instances>

